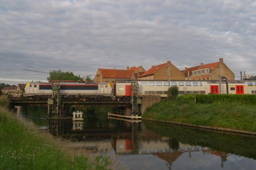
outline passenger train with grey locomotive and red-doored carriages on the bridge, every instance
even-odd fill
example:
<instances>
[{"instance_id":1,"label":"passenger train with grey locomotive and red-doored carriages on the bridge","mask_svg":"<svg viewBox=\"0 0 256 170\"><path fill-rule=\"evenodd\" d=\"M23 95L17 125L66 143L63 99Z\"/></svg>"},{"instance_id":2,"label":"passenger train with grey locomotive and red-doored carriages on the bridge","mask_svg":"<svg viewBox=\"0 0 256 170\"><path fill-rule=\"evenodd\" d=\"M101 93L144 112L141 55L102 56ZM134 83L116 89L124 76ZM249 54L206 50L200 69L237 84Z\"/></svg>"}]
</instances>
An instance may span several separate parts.
<instances>
[{"instance_id":1,"label":"passenger train with grey locomotive and red-doored carriages on the bridge","mask_svg":"<svg viewBox=\"0 0 256 170\"><path fill-rule=\"evenodd\" d=\"M131 84L138 83L138 95L160 95L167 97L169 86L179 87L181 94L256 94L256 81L194 81L194 80L117 80L112 86L109 82L77 83L60 82L60 94L65 97L97 98L107 97L112 99L129 98L132 93ZM27 97L39 96L49 98L52 94L52 83L29 82L25 86Z\"/></svg>"}]
</instances>

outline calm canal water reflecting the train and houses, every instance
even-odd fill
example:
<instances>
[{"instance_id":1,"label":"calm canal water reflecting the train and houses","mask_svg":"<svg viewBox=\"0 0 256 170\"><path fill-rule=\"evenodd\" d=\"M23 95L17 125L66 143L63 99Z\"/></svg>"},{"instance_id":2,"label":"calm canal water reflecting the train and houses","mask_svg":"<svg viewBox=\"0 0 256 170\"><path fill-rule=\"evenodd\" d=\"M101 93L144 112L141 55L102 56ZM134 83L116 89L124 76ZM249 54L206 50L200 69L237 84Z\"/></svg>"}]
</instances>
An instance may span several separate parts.
<instances>
[{"instance_id":1,"label":"calm canal water reflecting the train and houses","mask_svg":"<svg viewBox=\"0 0 256 170\"><path fill-rule=\"evenodd\" d=\"M87 112L83 121L44 119L44 107L22 107L17 115L74 149L110 156L116 169L256 169L256 138L143 121L108 119L108 109Z\"/></svg>"}]
</instances>

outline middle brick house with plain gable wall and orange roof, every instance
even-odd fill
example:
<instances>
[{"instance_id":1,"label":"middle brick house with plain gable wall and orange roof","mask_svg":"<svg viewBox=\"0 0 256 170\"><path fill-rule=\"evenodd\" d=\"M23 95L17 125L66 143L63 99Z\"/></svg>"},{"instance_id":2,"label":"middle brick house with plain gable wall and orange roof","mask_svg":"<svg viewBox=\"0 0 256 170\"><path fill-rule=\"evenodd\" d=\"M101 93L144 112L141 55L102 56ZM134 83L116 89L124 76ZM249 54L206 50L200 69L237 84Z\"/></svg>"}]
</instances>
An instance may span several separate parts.
<instances>
[{"instance_id":1,"label":"middle brick house with plain gable wall and orange roof","mask_svg":"<svg viewBox=\"0 0 256 170\"><path fill-rule=\"evenodd\" d=\"M170 80L185 80L183 72L170 61L152 66L139 76L139 80L168 80L168 66L170 66Z\"/></svg>"}]
</instances>

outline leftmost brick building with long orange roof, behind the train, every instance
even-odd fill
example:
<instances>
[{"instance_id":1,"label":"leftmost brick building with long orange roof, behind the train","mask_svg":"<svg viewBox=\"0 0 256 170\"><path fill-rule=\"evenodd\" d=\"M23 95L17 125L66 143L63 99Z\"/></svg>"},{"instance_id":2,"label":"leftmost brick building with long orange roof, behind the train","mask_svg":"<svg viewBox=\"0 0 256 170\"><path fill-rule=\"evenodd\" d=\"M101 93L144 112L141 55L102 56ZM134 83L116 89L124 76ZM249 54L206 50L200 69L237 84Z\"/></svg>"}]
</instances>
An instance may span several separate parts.
<instances>
[{"instance_id":1,"label":"leftmost brick building with long orange roof, behind the train","mask_svg":"<svg viewBox=\"0 0 256 170\"><path fill-rule=\"evenodd\" d=\"M145 72L145 69L142 66L127 67L127 69L99 68L95 75L94 82L109 82L111 85L114 85L117 79L137 80L143 72Z\"/></svg>"}]
</instances>

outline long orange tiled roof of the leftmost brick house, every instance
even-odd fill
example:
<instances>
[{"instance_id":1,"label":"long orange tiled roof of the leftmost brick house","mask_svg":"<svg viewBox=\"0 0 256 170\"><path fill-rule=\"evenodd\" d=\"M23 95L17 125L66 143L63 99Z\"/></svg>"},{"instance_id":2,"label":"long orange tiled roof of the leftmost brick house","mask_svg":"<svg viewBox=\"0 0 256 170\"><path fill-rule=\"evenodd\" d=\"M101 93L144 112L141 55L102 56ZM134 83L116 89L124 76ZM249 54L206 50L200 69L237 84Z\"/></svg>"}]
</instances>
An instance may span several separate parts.
<instances>
[{"instance_id":1,"label":"long orange tiled roof of the leftmost brick house","mask_svg":"<svg viewBox=\"0 0 256 170\"><path fill-rule=\"evenodd\" d=\"M125 69L102 69L99 71L103 78L114 78L114 79L131 79L134 70Z\"/></svg>"}]
</instances>

